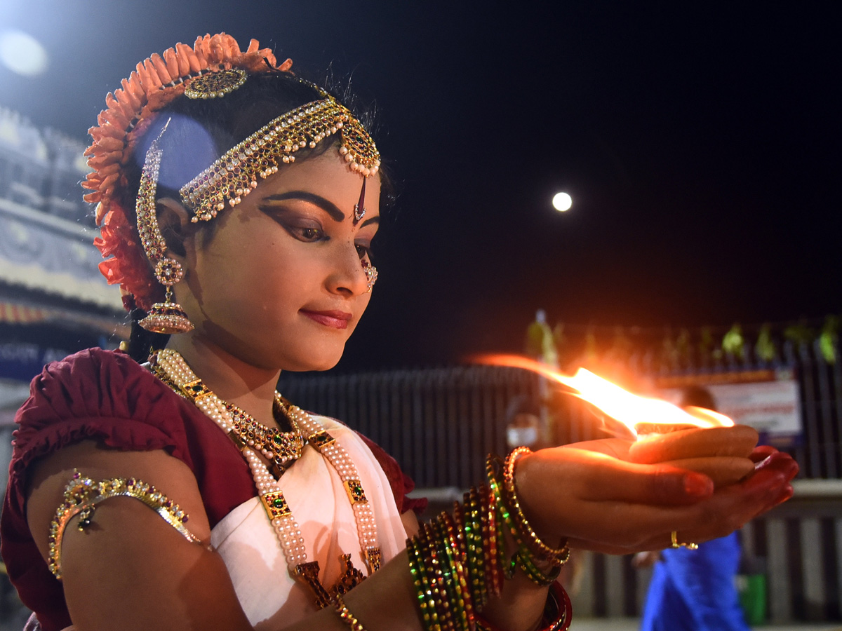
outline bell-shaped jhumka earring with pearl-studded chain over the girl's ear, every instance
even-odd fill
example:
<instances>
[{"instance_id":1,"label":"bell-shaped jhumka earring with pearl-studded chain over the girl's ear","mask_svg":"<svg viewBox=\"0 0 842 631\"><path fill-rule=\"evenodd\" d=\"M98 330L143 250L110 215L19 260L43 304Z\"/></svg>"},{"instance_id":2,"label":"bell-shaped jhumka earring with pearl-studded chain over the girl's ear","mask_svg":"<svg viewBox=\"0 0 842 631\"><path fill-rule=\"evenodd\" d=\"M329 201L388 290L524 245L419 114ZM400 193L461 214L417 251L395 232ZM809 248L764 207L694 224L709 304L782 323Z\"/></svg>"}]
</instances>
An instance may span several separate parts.
<instances>
[{"instance_id":1,"label":"bell-shaped jhumka earring with pearl-studded chain over the girl's ear","mask_svg":"<svg viewBox=\"0 0 842 631\"><path fill-rule=\"evenodd\" d=\"M167 121L169 125L169 121ZM159 143L167 125L149 146L147 157L143 162L141 185L137 192L135 211L137 215L137 231L141 235L143 249L149 261L155 266L155 278L167 288L163 302L152 305L147 316L138 322L147 331L154 333L184 333L193 330L193 323L189 321L181 305L173 301L173 285L184 278L181 263L166 256L167 242L164 241L161 229L157 223L155 194L157 191L158 170L161 167L161 150Z\"/></svg>"}]
</instances>

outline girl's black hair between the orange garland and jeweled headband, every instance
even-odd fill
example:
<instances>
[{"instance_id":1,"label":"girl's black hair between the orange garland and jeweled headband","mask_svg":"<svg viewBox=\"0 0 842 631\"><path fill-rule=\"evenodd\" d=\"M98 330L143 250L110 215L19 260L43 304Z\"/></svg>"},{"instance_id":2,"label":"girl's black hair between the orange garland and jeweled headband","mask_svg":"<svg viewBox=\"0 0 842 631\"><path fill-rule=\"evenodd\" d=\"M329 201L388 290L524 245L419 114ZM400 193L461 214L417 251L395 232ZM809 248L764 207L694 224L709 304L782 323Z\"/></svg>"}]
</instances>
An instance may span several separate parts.
<instances>
[{"instance_id":1,"label":"girl's black hair between the orange garland and jeweled headband","mask_svg":"<svg viewBox=\"0 0 842 631\"><path fill-rule=\"evenodd\" d=\"M349 100L345 94L346 107ZM158 136L162 150L158 172L157 198L180 199L179 188L210 167L226 151L259 130L280 114L296 109L305 103L323 98L322 92L312 83L301 81L290 72L259 72L250 75L241 87L222 98L193 99L180 96L155 114L155 120L136 142L134 153L124 167L127 185L122 188L121 206L131 224L136 223L135 200L140 186L141 171L147 150ZM335 98L335 97L334 97ZM339 100L339 99L337 99ZM357 115L366 124L365 114ZM166 131L161 135L164 125ZM320 142L314 148L296 151L296 161L317 156L338 144L338 135ZM386 199L391 197L391 187L381 167L381 190ZM200 222L194 230L213 230L216 222ZM170 247L180 246L179 238L164 232ZM183 236L182 236L183 237ZM156 288L153 300L163 300L163 287ZM146 361L150 347L163 347L168 337L150 334L138 324L142 310L131 312L132 333L129 354L138 361Z\"/></svg>"}]
</instances>

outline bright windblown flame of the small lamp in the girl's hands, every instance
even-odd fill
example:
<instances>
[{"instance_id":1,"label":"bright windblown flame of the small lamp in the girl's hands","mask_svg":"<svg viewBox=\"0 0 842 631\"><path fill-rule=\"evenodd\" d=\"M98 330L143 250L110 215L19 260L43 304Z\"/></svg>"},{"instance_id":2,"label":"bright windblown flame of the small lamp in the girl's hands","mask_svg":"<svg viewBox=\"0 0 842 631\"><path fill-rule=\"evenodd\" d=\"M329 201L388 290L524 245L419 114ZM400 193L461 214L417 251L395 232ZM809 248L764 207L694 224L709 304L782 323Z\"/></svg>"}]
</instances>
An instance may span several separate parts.
<instances>
[{"instance_id":1,"label":"bright windblown flame of the small lamp in the girl's hands","mask_svg":"<svg viewBox=\"0 0 842 631\"><path fill-rule=\"evenodd\" d=\"M579 399L588 401L606 415L625 425L632 435L637 437L637 427L641 425L693 425L695 427L731 427L734 422L723 414L701 407L687 410L674 406L665 400L632 395L619 385L612 384L589 370L580 368L573 377L536 362L534 359L518 355L488 355L479 358L479 363L493 366L509 366L530 370L541 374L559 384L574 390L571 393Z\"/></svg>"}]
</instances>

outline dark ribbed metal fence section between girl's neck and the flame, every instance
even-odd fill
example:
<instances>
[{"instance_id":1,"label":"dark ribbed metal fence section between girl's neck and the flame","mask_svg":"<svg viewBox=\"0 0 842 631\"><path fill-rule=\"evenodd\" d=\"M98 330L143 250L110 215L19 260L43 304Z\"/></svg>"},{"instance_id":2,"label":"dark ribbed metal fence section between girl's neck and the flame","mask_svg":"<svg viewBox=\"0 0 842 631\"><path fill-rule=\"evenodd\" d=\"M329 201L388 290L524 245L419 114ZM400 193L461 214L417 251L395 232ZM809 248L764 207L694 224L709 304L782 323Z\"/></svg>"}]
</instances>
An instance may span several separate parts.
<instances>
[{"instance_id":1,"label":"dark ribbed metal fence section between girl's neck and the flame","mask_svg":"<svg viewBox=\"0 0 842 631\"><path fill-rule=\"evenodd\" d=\"M509 405L514 397L536 402L538 380L522 370L458 366L284 374L279 389L376 441L418 486L466 488L482 480L487 453L504 452Z\"/></svg>"}]
</instances>

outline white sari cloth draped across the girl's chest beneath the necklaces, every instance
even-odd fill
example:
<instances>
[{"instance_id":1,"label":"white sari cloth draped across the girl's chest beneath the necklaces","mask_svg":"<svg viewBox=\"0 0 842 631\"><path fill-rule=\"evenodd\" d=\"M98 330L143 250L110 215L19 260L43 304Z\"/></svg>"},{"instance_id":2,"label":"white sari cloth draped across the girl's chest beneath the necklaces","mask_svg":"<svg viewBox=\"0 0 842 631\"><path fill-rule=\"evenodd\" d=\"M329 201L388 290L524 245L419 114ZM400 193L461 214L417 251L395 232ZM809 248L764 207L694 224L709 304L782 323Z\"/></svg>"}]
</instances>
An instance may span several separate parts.
<instances>
[{"instance_id":1,"label":"white sari cloth draped across the girl's chest beneath the necklaces","mask_svg":"<svg viewBox=\"0 0 842 631\"><path fill-rule=\"evenodd\" d=\"M386 474L355 432L325 416L312 416L348 452L360 472L374 511L383 563L406 547L407 534ZM281 490L304 536L307 560L318 561L322 585L340 574L339 556L351 554L365 574L354 511L342 481L327 459L310 445L280 478ZM217 523L210 543L225 561L237 598L255 628L279 628L316 612L310 589L290 575L274 528L257 497L243 502Z\"/></svg>"}]
</instances>

